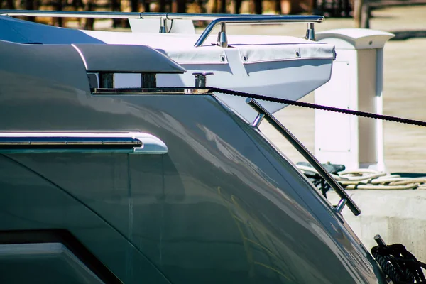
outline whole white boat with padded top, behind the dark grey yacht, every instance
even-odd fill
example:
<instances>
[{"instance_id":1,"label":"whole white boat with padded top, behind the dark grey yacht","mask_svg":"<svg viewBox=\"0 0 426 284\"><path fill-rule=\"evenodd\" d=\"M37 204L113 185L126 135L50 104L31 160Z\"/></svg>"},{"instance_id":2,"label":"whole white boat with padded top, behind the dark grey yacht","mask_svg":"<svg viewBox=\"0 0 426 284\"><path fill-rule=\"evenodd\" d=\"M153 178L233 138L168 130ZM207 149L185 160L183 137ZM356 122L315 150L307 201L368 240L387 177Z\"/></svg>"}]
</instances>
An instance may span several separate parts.
<instances>
[{"instance_id":1,"label":"whole white boat with padded top, behind the dark grey yacht","mask_svg":"<svg viewBox=\"0 0 426 284\"><path fill-rule=\"evenodd\" d=\"M148 45L187 70L183 75L158 75L158 87L193 87L193 72L214 72L207 78L208 87L293 100L329 81L335 57L333 45L288 36L228 35L229 47L222 48L211 44L216 43L216 35L195 47L199 35L193 33L80 31L5 16L0 16L0 29L1 40L15 43ZM116 75L115 84L140 87L140 78L137 74ZM219 97L245 119L251 121L256 116L244 98ZM267 102L263 105L271 112L285 107Z\"/></svg>"}]
</instances>

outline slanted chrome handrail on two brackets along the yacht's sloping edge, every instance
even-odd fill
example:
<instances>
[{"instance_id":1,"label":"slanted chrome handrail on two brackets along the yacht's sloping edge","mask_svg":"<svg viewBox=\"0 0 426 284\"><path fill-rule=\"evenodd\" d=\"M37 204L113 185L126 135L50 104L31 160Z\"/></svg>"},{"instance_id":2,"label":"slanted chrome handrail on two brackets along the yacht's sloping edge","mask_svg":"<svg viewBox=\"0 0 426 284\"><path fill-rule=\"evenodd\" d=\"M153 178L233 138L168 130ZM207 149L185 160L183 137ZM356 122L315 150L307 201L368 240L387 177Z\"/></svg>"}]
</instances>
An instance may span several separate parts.
<instances>
[{"instance_id":1,"label":"slanted chrome handrail on two brackets along the yacht's sloping edge","mask_svg":"<svg viewBox=\"0 0 426 284\"><path fill-rule=\"evenodd\" d=\"M351 212L354 213L355 216L358 216L361 214L361 209L359 209L358 206L356 206L354 200L349 197L349 195L346 194L344 189L342 188L342 185L339 185L339 182L334 180L332 175L327 172L327 170L324 168L324 166L315 158L312 153L310 153L309 150L305 146L303 146L302 143L300 143L293 134L288 131L288 129L283 126L283 124L280 123L275 117L269 113L264 107L262 107L261 104L256 102L254 99L246 99L246 103L249 104L254 110L258 112L259 115L263 114L261 119L266 119L278 132L280 132L290 143L291 145L300 153L302 156L312 165L312 167L317 170L318 173L324 178L325 181L332 187L332 189L339 195L341 200L339 201L339 204L335 208L336 212L341 213L342 209L344 208L344 205L347 204L349 209L351 209ZM256 118L253 122L253 127L258 127L260 122Z\"/></svg>"}]
</instances>

